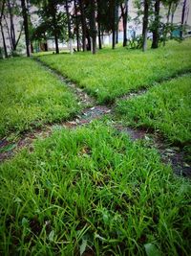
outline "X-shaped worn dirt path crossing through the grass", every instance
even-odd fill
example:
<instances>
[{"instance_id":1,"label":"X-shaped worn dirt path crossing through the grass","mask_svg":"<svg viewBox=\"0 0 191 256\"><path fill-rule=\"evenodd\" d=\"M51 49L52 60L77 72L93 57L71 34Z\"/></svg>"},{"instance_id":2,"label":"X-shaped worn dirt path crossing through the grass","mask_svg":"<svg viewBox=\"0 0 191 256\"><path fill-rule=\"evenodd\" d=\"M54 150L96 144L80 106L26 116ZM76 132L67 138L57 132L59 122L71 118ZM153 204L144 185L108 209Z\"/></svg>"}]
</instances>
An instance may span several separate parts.
<instances>
[{"instance_id":1,"label":"X-shaped worn dirt path crossing through the grass","mask_svg":"<svg viewBox=\"0 0 191 256\"><path fill-rule=\"evenodd\" d=\"M33 129L30 132L25 132L15 141L8 141L4 138L0 141L0 162L10 159L16 152L20 151L24 147L28 147L29 151L32 151L32 141L38 137L50 136L53 132L53 128L56 126L63 128L76 128L91 123L93 120L100 119L104 115L112 114L115 105L96 105L96 100L81 89L77 85L61 76L57 71L54 71L46 64L38 60L38 63L51 72L57 79L63 81L77 98L78 104L82 106L84 110L79 115L76 115L73 120L65 121L59 124L45 125L43 128ZM120 97L118 100L129 100L138 97L141 94L146 93L146 89L140 89L137 92L128 93L125 96ZM152 147L159 151L161 160L170 164L177 175L184 175L191 177L191 163L185 160L186 155L182 149L167 145L159 134L148 132L146 129L141 128L129 128L123 127L120 124L114 124L113 126L119 132L126 132L130 135L131 139L146 139L151 140Z\"/></svg>"}]
</instances>

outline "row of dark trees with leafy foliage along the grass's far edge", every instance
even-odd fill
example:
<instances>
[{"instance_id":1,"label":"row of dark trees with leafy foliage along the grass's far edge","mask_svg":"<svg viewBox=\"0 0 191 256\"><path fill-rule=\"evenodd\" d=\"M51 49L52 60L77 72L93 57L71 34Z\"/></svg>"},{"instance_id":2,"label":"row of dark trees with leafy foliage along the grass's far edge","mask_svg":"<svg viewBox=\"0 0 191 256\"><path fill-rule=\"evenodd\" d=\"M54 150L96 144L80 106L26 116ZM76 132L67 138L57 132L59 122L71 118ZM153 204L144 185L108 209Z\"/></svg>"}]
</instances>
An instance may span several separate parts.
<instances>
[{"instance_id":1,"label":"row of dark trees with leafy foliage along the grass's far edge","mask_svg":"<svg viewBox=\"0 0 191 256\"><path fill-rule=\"evenodd\" d=\"M135 0L142 24L141 47L147 48L147 35L152 32L152 48L159 47L159 41L165 41L173 31L174 14L179 4L182 5L180 17L180 38L185 24L187 0ZM165 8L166 21L161 22L161 6ZM96 54L102 48L104 34L112 34L112 48L118 41L118 23L123 27L123 46L127 46L127 24L129 20L129 0L2 0L0 3L0 29L5 57L8 57L5 31L9 35L11 51L14 52L22 33L25 34L27 56L33 50L32 42L42 41L48 50L47 39L53 38L55 53L59 54L59 40L69 43L75 51L91 50ZM32 25L31 16L35 12L39 21ZM14 17L20 16L20 32L15 33Z\"/></svg>"}]
</instances>

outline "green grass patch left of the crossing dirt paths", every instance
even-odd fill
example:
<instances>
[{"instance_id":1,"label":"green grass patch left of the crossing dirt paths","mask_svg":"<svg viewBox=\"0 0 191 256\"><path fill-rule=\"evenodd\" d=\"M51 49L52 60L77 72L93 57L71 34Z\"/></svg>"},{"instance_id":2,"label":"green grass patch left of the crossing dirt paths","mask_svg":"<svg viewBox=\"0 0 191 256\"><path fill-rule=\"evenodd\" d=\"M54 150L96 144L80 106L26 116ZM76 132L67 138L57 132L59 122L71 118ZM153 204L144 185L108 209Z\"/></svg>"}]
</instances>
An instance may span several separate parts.
<instances>
[{"instance_id":1,"label":"green grass patch left of the crossing dirt paths","mask_svg":"<svg viewBox=\"0 0 191 256\"><path fill-rule=\"evenodd\" d=\"M69 118L77 111L63 82L32 59L0 61L0 137Z\"/></svg>"}]
</instances>

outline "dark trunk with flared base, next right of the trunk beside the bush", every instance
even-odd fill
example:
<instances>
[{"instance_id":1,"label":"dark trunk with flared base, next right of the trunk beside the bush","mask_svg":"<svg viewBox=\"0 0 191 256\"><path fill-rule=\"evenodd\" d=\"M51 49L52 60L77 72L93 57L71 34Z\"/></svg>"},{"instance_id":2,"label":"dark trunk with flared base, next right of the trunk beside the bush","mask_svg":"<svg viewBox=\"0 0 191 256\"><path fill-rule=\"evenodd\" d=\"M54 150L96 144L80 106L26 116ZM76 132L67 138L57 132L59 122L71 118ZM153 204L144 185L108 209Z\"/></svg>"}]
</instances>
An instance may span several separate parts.
<instances>
[{"instance_id":1,"label":"dark trunk with flared base, next right of the trunk beside the bush","mask_svg":"<svg viewBox=\"0 0 191 256\"><path fill-rule=\"evenodd\" d=\"M153 31L153 42L151 48L156 49L159 47L159 4L160 0L155 2L155 29Z\"/></svg>"}]
</instances>

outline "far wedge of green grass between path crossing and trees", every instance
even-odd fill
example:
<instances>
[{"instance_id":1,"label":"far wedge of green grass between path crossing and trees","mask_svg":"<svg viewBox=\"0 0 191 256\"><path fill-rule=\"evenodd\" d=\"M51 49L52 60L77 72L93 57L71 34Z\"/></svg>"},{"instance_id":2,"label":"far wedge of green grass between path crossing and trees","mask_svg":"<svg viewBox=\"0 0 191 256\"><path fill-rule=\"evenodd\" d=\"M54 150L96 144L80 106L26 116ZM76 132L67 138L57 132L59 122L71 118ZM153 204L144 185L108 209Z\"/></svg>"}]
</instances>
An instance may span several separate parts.
<instances>
[{"instance_id":1,"label":"far wedge of green grass between path crossing and trees","mask_svg":"<svg viewBox=\"0 0 191 256\"><path fill-rule=\"evenodd\" d=\"M158 50L115 51L103 49L91 53L49 55L40 59L64 76L85 87L98 103L114 102L116 97L140 87L151 86L179 73L191 70L191 40L171 41Z\"/></svg>"}]
</instances>

